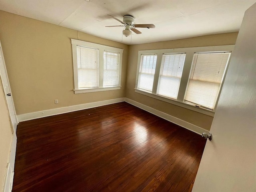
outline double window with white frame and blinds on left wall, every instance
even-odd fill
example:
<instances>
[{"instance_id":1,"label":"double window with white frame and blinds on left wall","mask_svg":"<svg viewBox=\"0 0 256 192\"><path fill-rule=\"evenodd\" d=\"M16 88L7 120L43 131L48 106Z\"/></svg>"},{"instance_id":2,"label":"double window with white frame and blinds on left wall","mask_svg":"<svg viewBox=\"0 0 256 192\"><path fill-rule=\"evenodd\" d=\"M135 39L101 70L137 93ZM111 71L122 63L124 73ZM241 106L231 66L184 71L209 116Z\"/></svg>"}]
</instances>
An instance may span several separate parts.
<instances>
[{"instance_id":1,"label":"double window with white frame and blinds on left wall","mask_svg":"<svg viewBox=\"0 0 256 192\"><path fill-rule=\"evenodd\" d=\"M75 93L120 89L123 49L71 41Z\"/></svg>"}]
</instances>

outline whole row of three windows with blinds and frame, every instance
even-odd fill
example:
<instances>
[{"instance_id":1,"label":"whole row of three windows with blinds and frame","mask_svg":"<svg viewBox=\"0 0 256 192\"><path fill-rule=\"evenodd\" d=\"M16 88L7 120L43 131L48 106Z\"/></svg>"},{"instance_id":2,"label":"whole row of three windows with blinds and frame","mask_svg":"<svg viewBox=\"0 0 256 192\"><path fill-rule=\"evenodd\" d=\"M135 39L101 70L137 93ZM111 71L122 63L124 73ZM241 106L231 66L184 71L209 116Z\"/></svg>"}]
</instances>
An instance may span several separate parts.
<instances>
[{"instance_id":1,"label":"whole row of three windows with blinds and frame","mask_svg":"<svg viewBox=\"0 0 256 192\"><path fill-rule=\"evenodd\" d=\"M142 50L135 92L214 116L234 46Z\"/></svg>"}]
</instances>

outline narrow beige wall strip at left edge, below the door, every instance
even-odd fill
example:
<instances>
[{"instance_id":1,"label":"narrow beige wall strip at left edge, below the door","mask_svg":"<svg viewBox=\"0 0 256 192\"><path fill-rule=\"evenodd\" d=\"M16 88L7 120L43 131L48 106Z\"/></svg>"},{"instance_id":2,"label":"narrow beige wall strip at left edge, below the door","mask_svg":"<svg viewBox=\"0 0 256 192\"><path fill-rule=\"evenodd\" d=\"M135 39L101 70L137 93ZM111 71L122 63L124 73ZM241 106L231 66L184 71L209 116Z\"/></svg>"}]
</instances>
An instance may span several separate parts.
<instances>
[{"instance_id":1,"label":"narrow beige wall strip at left edge, below the door","mask_svg":"<svg viewBox=\"0 0 256 192\"><path fill-rule=\"evenodd\" d=\"M4 187L4 176L9 162L9 153L12 143L11 126L4 89L0 79L0 191L2 191Z\"/></svg>"}]
</instances>

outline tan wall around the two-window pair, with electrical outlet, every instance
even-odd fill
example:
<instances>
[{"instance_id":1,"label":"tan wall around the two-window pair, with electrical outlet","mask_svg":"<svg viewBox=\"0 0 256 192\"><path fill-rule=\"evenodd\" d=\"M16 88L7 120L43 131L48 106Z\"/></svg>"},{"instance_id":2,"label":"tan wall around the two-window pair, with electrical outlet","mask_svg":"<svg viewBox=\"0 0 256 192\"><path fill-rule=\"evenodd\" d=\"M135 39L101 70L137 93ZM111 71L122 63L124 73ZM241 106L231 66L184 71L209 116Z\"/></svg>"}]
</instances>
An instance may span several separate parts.
<instances>
[{"instance_id":1,"label":"tan wall around the two-window pair, with electrical outlet","mask_svg":"<svg viewBox=\"0 0 256 192\"><path fill-rule=\"evenodd\" d=\"M0 11L0 40L18 115L125 97L128 46L79 32L79 40L124 49L122 87L74 94L71 38L78 39L78 32Z\"/></svg>"}]
</instances>

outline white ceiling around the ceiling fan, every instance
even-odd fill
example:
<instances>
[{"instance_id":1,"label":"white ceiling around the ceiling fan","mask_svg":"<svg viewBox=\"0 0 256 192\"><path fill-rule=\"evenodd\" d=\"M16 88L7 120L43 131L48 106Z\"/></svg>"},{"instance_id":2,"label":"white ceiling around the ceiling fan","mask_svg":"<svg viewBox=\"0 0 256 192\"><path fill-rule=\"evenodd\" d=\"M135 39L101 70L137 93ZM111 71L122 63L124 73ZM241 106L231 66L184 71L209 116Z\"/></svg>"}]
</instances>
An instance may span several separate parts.
<instances>
[{"instance_id":1,"label":"white ceiling around the ceiling fan","mask_svg":"<svg viewBox=\"0 0 256 192\"><path fill-rule=\"evenodd\" d=\"M238 32L244 12L256 0L0 0L0 10L49 22L94 36L130 44L123 27L108 14L122 20L134 16L137 28L132 44L176 40L195 36Z\"/></svg>"}]
</instances>

